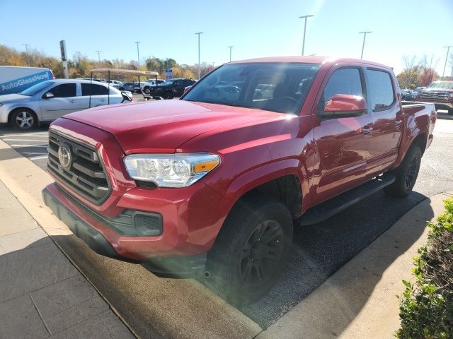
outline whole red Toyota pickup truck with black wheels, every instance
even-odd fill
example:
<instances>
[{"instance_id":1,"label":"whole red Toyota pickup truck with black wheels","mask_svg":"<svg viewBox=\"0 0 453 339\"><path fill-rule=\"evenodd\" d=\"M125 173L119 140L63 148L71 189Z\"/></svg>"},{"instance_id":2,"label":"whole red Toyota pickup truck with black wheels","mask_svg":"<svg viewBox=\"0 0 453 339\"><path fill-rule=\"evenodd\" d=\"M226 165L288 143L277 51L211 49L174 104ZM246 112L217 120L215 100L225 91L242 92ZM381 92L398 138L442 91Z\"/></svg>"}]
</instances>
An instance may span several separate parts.
<instances>
[{"instance_id":1,"label":"whole red Toyota pickup truck with black wheels","mask_svg":"<svg viewBox=\"0 0 453 339\"><path fill-rule=\"evenodd\" d=\"M42 194L98 254L200 277L245 304L275 283L294 224L326 220L380 189L407 196L436 119L432 104L403 106L381 64L234 61L180 100L52 123L55 183Z\"/></svg>"}]
</instances>

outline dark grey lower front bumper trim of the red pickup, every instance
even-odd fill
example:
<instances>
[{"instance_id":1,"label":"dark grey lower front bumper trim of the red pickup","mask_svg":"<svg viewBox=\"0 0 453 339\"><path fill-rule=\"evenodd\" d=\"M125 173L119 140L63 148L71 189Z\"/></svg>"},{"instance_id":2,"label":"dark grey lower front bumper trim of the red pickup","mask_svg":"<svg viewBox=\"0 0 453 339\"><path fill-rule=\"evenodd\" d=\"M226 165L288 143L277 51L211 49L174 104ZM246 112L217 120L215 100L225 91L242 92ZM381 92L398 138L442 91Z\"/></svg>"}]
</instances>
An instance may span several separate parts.
<instances>
[{"instance_id":1,"label":"dark grey lower front bumper trim of the red pickup","mask_svg":"<svg viewBox=\"0 0 453 339\"><path fill-rule=\"evenodd\" d=\"M207 257L205 253L188 256L143 257L139 259L120 254L118 245L112 244L102 232L93 227L93 224L96 225L96 215L87 213L79 203L74 201L74 198L65 194L55 184L50 184L42 190L42 198L46 206L52 210L57 218L62 220L76 237L84 241L97 254L121 261L139 263L154 274L166 278L196 278L202 276L205 271ZM70 200L73 201L69 203ZM107 224L105 220L104 223ZM118 236L120 237L120 234ZM156 237L128 238L130 242L146 242L147 238L155 239Z\"/></svg>"}]
</instances>

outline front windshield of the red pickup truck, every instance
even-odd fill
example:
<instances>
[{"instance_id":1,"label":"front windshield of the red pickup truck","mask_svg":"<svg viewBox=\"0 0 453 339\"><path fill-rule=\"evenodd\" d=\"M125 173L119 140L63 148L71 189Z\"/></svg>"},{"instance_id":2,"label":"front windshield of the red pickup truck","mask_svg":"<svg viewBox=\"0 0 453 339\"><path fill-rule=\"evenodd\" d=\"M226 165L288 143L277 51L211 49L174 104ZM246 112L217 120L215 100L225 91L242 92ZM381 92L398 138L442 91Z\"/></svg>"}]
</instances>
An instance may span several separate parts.
<instances>
[{"instance_id":1,"label":"front windshield of the red pickup truck","mask_svg":"<svg viewBox=\"0 0 453 339\"><path fill-rule=\"evenodd\" d=\"M197 83L183 100L298 114L318 64L229 64Z\"/></svg>"}]
</instances>

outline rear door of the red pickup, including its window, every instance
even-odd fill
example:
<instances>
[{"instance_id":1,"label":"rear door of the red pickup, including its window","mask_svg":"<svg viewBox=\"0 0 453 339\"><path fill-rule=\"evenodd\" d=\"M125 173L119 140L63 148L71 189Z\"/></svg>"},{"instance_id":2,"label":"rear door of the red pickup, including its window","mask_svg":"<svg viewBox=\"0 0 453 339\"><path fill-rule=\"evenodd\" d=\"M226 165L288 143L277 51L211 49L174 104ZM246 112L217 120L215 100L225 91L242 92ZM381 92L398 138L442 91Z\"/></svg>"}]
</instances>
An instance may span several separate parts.
<instances>
[{"instance_id":1,"label":"rear door of the red pickup, including its window","mask_svg":"<svg viewBox=\"0 0 453 339\"><path fill-rule=\"evenodd\" d=\"M394 76L384 69L367 68L368 107L372 109L372 141L367 177L383 172L398 156L403 128L403 110Z\"/></svg>"}]
</instances>

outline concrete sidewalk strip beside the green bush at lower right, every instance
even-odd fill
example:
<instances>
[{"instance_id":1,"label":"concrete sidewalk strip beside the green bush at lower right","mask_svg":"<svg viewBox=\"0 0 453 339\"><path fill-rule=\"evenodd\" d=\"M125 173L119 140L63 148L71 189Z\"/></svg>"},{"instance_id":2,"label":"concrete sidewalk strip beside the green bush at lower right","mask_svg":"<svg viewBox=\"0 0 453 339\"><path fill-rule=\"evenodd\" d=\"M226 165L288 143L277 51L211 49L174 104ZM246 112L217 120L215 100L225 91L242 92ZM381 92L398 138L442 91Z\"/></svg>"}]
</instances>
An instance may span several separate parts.
<instances>
[{"instance_id":1,"label":"concrete sidewalk strip beside the green bush at lower right","mask_svg":"<svg viewBox=\"0 0 453 339\"><path fill-rule=\"evenodd\" d=\"M412 261L428 239L426 222L444 213L443 201L452 194L437 194L412 208L257 338L394 338L401 280L415 281Z\"/></svg>"}]
</instances>

